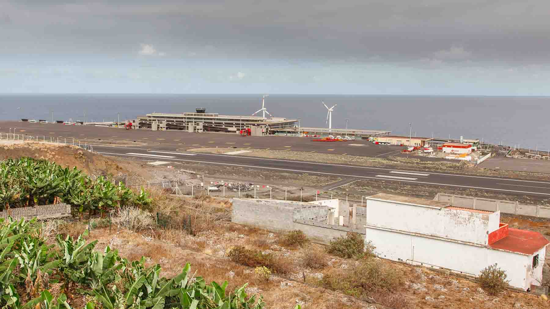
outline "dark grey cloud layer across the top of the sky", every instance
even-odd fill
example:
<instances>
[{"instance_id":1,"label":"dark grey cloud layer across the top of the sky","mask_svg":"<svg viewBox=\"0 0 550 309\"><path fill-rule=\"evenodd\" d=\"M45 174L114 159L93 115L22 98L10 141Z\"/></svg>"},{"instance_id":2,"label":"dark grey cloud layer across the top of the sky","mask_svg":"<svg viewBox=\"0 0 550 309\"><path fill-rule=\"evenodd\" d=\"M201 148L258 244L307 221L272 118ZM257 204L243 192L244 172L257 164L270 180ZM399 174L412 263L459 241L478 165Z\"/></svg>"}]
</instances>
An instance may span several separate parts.
<instances>
[{"instance_id":1,"label":"dark grey cloud layer across the top of the sky","mask_svg":"<svg viewBox=\"0 0 550 309\"><path fill-rule=\"evenodd\" d=\"M5 3L3 11L0 39L11 44L0 55L525 64L550 58L547 0L46 0Z\"/></svg>"}]
</instances>

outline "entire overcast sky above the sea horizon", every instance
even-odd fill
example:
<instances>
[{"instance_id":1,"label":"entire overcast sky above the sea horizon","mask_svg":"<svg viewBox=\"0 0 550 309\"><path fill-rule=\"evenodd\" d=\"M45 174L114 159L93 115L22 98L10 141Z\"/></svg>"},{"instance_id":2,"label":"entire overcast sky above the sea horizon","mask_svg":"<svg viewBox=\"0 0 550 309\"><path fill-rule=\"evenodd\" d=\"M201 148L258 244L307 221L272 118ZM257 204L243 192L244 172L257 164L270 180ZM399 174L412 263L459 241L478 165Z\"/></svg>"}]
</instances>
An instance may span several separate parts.
<instances>
[{"instance_id":1,"label":"entire overcast sky above the sea horizon","mask_svg":"<svg viewBox=\"0 0 550 309\"><path fill-rule=\"evenodd\" d=\"M0 2L0 93L550 95L548 0Z\"/></svg>"}]
</instances>

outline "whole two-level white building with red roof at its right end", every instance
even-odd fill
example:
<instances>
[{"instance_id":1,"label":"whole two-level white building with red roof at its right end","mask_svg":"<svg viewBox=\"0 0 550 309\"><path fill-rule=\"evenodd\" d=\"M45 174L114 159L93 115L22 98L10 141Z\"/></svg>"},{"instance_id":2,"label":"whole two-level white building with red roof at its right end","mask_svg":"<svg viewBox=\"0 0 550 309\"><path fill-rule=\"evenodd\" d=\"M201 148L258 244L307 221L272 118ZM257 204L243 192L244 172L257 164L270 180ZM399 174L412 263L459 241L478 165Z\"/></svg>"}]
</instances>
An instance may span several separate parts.
<instances>
[{"instance_id":1,"label":"whole two-level white building with red roof at its right end","mask_svg":"<svg viewBox=\"0 0 550 309\"><path fill-rule=\"evenodd\" d=\"M541 285L548 240L500 223L500 211L377 194L367 198L366 237L384 259L477 276L494 263L515 288Z\"/></svg>"}]
</instances>

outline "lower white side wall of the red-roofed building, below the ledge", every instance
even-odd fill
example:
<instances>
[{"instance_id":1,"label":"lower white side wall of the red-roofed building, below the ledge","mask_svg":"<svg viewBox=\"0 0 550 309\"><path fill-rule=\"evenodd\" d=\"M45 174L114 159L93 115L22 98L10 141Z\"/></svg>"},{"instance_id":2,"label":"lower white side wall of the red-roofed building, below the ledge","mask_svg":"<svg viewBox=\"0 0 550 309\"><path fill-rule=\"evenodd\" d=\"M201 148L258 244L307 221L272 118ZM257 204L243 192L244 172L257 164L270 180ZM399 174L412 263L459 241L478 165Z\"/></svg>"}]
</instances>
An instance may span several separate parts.
<instances>
[{"instance_id":1,"label":"lower white side wall of the red-roofed building, below the ledge","mask_svg":"<svg viewBox=\"0 0 550 309\"><path fill-rule=\"evenodd\" d=\"M507 272L511 286L526 290L533 282L527 271L532 256L372 227L366 228L365 240L372 241L376 246L376 254L384 259L447 268L472 276L478 276L483 268L498 263L498 267ZM538 276L538 268L536 275Z\"/></svg>"}]
</instances>

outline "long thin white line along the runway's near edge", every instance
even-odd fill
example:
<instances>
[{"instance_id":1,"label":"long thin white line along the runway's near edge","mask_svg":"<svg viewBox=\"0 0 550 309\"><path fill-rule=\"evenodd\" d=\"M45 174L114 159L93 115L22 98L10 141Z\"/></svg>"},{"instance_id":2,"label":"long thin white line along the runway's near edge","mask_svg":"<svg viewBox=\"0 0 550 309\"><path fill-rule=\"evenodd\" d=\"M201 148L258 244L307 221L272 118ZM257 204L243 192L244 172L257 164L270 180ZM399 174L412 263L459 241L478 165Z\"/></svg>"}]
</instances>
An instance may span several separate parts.
<instances>
[{"instance_id":1,"label":"long thin white line along the runway's near edge","mask_svg":"<svg viewBox=\"0 0 550 309\"><path fill-rule=\"evenodd\" d=\"M120 148L120 147L119 147ZM103 153L97 152L98 154L111 154L111 155L127 155L127 156L147 156L147 155L131 155L131 154L116 154L116 153ZM278 167L266 167L266 166L254 166L254 165L243 165L243 164L231 164L223 162L209 162L209 161L199 161L199 160L185 160L185 159L172 159L173 161L185 161L185 162L196 162L196 163L206 163L206 164L219 164L219 165L229 165L229 166L240 166L240 167L252 167L252 168L263 168L266 170L278 170L278 171L292 171L300 173L316 173L321 175L336 175L336 176L348 176L348 177L359 177L363 179L384 179L378 177L369 177L369 176L357 176L357 175L347 175L347 174L337 174L337 173L326 173L326 172L317 172L317 171L303 171L303 170L293 170L290 168L278 168ZM383 168L380 168L383 169ZM477 176L472 176L477 177ZM410 181L406 179L385 179L401 182L411 182L411 183L421 183L421 184L434 184L436 186L449 186L449 187L458 187L458 188L474 188L474 189L485 189L485 190L497 190L497 191L506 191L506 192L518 192L518 193L529 193L529 194L542 194L550 195L550 193L539 193L539 192L529 192L529 191L516 191L516 190L507 190L507 189L497 189L497 188L485 188L485 187L474 187L474 186L461 186L460 184L447 184L447 183L436 183L436 182L422 182L422 181Z\"/></svg>"}]
</instances>

